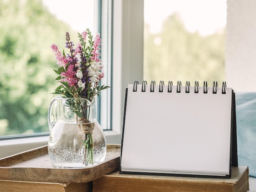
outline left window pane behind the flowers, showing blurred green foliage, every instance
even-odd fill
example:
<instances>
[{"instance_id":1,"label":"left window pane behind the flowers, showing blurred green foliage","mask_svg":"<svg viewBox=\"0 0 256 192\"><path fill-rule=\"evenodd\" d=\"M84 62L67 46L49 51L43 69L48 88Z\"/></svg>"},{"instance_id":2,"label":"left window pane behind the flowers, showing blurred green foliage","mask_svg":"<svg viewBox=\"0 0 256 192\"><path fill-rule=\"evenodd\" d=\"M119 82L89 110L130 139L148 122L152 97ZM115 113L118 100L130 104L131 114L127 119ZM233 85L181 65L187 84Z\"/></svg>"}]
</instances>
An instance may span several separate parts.
<instances>
[{"instance_id":1,"label":"left window pane behind the flowers, showing blurred green foliage","mask_svg":"<svg viewBox=\"0 0 256 192\"><path fill-rule=\"evenodd\" d=\"M49 131L47 110L58 86L50 45L62 50L66 31L75 45L77 32L92 31L93 3L0 0L0 136Z\"/></svg>"}]
</instances>

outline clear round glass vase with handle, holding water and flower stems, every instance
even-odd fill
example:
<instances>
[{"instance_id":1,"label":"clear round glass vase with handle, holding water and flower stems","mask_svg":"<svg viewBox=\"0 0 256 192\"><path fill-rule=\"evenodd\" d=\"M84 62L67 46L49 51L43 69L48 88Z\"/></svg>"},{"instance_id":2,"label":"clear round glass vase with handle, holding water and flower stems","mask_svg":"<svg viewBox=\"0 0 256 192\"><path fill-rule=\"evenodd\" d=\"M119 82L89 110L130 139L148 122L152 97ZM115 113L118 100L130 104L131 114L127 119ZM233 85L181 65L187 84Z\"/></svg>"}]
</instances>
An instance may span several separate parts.
<instances>
[{"instance_id":1,"label":"clear round glass vase with handle, holding water and flower stems","mask_svg":"<svg viewBox=\"0 0 256 192\"><path fill-rule=\"evenodd\" d=\"M106 157L106 138L97 122L95 98L55 97L49 106L48 154L54 167L97 165Z\"/></svg>"}]
</instances>

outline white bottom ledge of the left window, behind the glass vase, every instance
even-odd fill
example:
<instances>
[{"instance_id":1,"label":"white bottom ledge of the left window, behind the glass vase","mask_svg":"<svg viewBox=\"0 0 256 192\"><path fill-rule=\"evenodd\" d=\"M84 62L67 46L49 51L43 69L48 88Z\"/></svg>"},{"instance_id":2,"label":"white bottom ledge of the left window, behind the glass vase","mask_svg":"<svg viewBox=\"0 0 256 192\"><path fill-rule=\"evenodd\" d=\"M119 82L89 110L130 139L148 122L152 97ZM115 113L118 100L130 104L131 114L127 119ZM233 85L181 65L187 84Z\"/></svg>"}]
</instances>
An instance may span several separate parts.
<instances>
[{"instance_id":1,"label":"white bottom ledge of the left window, behind the glass vase","mask_svg":"<svg viewBox=\"0 0 256 192\"><path fill-rule=\"evenodd\" d=\"M115 131L105 131L108 144L120 144L121 134ZM0 158L47 145L49 136L34 136L26 138L10 138L0 140Z\"/></svg>"}]
</instances>

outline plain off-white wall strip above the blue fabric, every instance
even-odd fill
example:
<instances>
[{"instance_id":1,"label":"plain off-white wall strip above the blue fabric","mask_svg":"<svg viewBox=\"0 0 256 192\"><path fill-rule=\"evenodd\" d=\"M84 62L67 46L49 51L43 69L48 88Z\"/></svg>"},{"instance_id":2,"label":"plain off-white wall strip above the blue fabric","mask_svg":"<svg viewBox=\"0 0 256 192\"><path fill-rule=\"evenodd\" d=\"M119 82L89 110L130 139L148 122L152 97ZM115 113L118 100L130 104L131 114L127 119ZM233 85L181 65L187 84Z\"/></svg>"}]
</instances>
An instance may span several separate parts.
<instances>
[{"instance_id":1,"label":"plain off-white wall strip above the blue fabric","mask_svg":"<svg viewBox=\"0 0 256 192\"><path fill-rule=\"evenodd\" d=\"M235 92L256 92L255 10L256 0L227 0L226 81Z\"/></svg>"}]
</instances>

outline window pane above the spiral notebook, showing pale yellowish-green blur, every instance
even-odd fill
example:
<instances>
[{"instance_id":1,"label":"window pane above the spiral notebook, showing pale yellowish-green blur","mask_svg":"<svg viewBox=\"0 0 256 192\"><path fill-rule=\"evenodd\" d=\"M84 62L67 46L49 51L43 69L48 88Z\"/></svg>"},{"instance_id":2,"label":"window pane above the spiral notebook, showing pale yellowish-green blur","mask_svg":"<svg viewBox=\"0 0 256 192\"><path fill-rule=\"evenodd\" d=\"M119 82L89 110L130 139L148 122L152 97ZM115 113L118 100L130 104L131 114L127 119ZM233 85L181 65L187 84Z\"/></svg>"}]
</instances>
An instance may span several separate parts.
<instances>
[{"instance_id":1,"label":"window pane above the spiral notebook, showing pale yellowish-green blur","mask_svg":"<svg viewBox=\"0 0 256 192\"><path fill-rule=\"evenodd\" d=\"M144 80L225 80L223 0L144 0Z\"/></svg>"}]
</instances>

